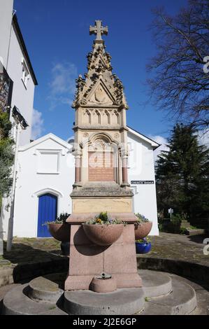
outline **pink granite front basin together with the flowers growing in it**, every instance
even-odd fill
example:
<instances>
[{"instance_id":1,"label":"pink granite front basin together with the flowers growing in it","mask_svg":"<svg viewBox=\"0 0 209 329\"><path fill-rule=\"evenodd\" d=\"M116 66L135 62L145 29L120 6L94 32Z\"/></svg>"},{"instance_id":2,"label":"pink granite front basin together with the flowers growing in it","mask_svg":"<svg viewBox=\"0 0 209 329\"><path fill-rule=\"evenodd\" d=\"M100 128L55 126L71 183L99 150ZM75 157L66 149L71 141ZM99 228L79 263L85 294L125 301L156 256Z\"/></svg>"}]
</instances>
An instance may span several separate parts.
<instances>
[{"instance_id":1,"label":"pink granite front basin together with the flowers growing in it","mask_svg":"<svg viewBox=\"0 0 209 329\"><path fill-rule=\"evenodd\" d=\"M101 212L95 218L82 223L85 234L94 244L110 246L122 235L125 223L108 216L107 212Z\"/></svg>"}]
</instances>

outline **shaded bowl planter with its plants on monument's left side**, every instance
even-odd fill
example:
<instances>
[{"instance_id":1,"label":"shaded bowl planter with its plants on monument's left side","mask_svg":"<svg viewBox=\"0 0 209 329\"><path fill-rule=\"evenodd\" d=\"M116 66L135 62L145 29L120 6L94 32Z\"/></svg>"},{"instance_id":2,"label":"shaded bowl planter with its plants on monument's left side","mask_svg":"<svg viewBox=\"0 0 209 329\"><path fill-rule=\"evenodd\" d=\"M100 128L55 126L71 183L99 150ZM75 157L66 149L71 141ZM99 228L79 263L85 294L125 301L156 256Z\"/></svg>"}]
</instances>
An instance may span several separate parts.
<instances>
[{"instance_id":1,"label":"shaded bowl planter with its plants on monument's left side","mask_svg":"<svg viewBox=\"0 0 209 329\"><path fill-rule=\"evenodd\" d=\"M69 216L69 214L60 214L56 221L45 223L48 225L48 230L52 237L58 241L70 241L71 227L69 223L66 223L66 219L69 218Z\"/></svg>"}]
</instances>

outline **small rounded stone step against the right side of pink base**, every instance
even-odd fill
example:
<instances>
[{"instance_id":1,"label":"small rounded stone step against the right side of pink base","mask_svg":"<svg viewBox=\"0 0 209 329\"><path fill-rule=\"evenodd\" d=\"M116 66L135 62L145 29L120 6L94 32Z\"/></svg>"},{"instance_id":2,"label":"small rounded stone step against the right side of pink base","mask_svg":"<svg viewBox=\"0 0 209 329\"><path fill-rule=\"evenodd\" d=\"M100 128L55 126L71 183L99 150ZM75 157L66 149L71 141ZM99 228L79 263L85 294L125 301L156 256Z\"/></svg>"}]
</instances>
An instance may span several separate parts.
<instances>
[{"instance_id":1,"label":"small rounded stone step against the right side of pink base","mask_svg":"<svg viewBox=\"0 0 209 329\"><path fill-rule=\"evenodd\" d=\"M171 293L172 281L168 274L149 269L140 269L138 274L142 279L145 297L159 297Z\"/></svg>"}]
</instances>

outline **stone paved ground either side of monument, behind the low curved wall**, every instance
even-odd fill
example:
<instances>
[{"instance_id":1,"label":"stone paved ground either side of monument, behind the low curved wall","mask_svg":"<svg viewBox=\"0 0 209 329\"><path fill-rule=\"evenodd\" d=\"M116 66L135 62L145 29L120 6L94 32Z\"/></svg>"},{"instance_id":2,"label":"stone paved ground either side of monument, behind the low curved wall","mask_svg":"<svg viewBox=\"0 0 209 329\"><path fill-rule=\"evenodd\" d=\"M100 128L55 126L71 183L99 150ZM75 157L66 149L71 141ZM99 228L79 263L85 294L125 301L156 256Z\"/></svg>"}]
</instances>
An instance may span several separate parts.
<instances>
[{"instance_id":1,"label":"stone paved ground either side of monument, behind the low curved wall","mask_svg":"<svg viewBox=\"0 0 209 329\"><path fill-rule=\"evenodd\" d=\"M159 237L151 237L152 251L141 257L173 258L187 260L202 265L209 265L209 255L203 255L203 239L206 235L173 235L161 232ZM6 247L6 245L5 245ZM53 239L20 239L13 240L13 249L0 258L0 269L15 265L45 262L63 257L60 242Z\"/></svg>"}]
</instances>

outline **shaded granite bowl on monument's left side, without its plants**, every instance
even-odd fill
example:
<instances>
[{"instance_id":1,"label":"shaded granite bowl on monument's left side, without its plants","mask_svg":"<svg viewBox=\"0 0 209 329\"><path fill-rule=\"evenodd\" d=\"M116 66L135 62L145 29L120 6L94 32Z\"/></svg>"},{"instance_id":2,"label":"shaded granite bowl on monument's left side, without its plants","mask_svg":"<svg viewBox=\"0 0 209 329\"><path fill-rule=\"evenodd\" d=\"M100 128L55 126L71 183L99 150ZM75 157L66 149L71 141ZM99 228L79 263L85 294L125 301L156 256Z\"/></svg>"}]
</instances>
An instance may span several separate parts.
<instances>
[{"instance_id":1,"label":"shaded granite bowl on monument's left side, without its plants","mask_svg":"<svg viewBox=\"0 0 209 329\"><path fill-rule=\"evenodd\" d=\"M52 235L52 237L54 237L56 240L62 242L70 241L71 225L69 225L68 223L64 223L64 224L48 223L48 230Z\"/></svg>"}]
</instances>

